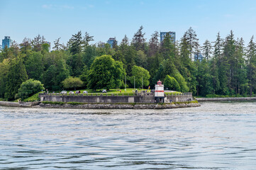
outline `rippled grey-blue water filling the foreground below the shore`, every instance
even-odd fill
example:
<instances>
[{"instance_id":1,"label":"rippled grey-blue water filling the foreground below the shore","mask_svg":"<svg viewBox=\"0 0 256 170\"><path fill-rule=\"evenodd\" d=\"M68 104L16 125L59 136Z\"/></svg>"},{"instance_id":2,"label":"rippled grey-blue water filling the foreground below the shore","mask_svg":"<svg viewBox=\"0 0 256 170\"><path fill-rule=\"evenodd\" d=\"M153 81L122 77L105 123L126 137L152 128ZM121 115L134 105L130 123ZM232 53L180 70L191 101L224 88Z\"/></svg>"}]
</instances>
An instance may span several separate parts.
<instances>
[{"instance_id":1,"label":"rippled grey-blue water filling the foreground below the shore","mask_svg":"<svg viewBox=\"0 0 256 170\"><path fill-rule=\"evenodd\" d=\"M98 110L0 106L0 169L256 169L256 103Z\"/></svg>"}]
</instances>

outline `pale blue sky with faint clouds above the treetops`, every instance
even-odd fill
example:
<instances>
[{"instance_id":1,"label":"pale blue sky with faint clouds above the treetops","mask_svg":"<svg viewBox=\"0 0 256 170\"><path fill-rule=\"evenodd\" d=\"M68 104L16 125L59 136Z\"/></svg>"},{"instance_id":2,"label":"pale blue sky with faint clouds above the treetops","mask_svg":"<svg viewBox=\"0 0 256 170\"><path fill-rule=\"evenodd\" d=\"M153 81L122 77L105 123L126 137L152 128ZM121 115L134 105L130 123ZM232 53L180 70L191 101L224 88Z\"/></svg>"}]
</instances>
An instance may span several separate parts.
<instances>
[{"instance_id":1,"label":"pale blue sky with faint clouds above the treetops","mask_svg":"<svg viewBox=\"0 0 256 170\"><path fill-rule=\"evenodd\" d=\"M256 33L254 0L0 0L0 40L44 35L53 45L61 38L65 44L79 30L94 36L94 42L106 42L124 35L132 40L143 26L145 38L157 31L174 31L180 40L189 27L196 31L202 45L225 38L233 30L245 45ZM1 41L0 41L1 45Z\"/></svg>"}]
</instances>

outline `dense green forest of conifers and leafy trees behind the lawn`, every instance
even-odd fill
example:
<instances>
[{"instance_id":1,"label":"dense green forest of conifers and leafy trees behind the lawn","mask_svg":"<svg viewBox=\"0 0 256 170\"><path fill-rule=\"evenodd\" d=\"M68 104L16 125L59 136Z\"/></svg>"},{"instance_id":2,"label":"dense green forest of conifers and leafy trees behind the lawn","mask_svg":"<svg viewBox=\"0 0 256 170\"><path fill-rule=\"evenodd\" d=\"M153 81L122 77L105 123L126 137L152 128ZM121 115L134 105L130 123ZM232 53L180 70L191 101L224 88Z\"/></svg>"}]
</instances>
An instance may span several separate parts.
<instances>
[{"instance_id":1,"label":"dense green forest of conifers and leafy trees behind the lawn","mask_svg":"<svg viewBox=\"0 0 256 170\"><path fill-rule=\"evenodd\" d=\"M145 39L143 26L131 42L91 44L94 36L78 33L67 44L55 40L50 50L44 36L24 38L0 52L0 98L13 101L23 82L40 81L48 91L154 87L158 80L170 90L196 96L252 96L256 93L256 47L245 45L233 31L199 45L189 28L180 40L160 33ZM204 56L199 60L199 54ZM31 82L31 81L30 81ZM30 85L33 89L33 84Z\"/></svg>"}]
</instances>

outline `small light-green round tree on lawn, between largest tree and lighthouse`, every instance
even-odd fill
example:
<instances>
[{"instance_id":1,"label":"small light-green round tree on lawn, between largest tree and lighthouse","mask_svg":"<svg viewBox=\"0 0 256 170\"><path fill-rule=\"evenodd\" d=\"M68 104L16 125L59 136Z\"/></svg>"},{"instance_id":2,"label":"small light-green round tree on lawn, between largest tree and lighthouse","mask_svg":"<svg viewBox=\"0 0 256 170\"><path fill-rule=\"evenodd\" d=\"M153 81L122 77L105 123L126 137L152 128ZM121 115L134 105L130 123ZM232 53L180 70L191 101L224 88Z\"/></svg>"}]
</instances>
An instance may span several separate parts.
<instances>
[{"instance_id":1,"label":"small light-green round tree on lawn, between largest tree and lighthouse","mask_svg":"<svg viewBox=\"0 0 256 170\"><path fill-rule=\"evenodd\" d=\"M129 79L130 84L133 84L135 79L135 87L143 88L144 86L148 86L150 84L150 73L143 67L133 66L132 76Z\"/></svg>"}]
</instances>

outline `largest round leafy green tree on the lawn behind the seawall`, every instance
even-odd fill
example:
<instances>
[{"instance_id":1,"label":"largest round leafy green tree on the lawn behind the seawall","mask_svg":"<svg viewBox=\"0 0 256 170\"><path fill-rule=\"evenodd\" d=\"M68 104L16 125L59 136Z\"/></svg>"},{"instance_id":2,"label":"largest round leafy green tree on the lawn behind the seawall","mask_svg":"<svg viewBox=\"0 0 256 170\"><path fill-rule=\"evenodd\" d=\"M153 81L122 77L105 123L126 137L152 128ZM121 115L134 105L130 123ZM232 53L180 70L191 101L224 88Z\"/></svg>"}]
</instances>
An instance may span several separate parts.
<instances>
[{"instance_id":1,"label":"largest round leafy green tree on the lawn behind the seawall","mask_svg":"<svg viewBox=\"0 0 256 170\"><path fill-rule=\"evenodd\" d=\"M113 60L111 55L96 57L88 74L89 89L111 89L121 86L126 74L123 63Z\"/></svg>"}]
</instances>

